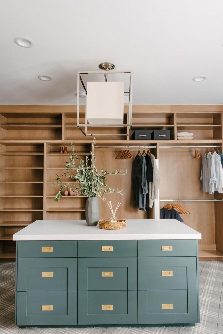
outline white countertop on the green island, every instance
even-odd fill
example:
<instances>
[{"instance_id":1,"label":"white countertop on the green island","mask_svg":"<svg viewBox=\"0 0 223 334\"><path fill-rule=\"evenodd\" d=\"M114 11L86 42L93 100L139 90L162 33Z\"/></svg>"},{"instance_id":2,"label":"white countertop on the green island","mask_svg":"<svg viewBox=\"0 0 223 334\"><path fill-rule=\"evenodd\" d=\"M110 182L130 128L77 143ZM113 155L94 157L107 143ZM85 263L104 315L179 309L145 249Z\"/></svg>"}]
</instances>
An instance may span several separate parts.
<instances>
[{"instance_id":1,"label":"white countertop on the green island","mask_svg":"<svg viewBox=\"0 0 223 334\"><path fill-rule=\"evenodd\" d=\"M127 226L104 230L85 220L36 220L13 240L168 240L201 239L201 233L176 219L127 219Z\"/></svg>"}]
</instances>

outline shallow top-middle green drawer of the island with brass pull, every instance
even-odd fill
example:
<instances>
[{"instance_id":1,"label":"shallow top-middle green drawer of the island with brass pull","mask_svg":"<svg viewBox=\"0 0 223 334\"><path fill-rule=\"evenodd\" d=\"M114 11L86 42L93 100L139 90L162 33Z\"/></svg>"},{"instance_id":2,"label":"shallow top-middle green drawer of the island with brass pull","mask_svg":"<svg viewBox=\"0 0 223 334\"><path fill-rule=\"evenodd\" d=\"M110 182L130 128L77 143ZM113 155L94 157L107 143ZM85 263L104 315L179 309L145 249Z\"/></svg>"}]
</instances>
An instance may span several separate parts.
<instances>
[{"instance_id":1,"label":"shallow top-middle green drawer of the island with brass pull","mask_svg":"<svg viewBox=\"0 0 223 334\"><path fill-rule=\"evenodd\" d=\"M78 241L78 258L137 257L137 240Z\"/></svg>"}]
</instances>

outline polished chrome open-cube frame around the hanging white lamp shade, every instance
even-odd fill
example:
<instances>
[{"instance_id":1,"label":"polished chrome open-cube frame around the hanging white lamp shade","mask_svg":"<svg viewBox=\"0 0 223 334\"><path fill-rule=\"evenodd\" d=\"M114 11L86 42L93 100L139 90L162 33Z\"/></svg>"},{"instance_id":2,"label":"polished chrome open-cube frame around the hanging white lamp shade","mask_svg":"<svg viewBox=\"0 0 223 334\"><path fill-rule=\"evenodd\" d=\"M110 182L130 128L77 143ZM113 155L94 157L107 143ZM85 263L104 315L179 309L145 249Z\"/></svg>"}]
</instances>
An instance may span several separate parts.
<instances>
[{"instance_id":1,"label":"polished chrome open-cube frame around the hanging white lamp shade","mask_svg":"<svg viewBox=\"0 0 223 334\"><path fill-rule=\"evenodd\" d=\"M104 79L105 81L107 81L107 71L81 71L81 72L77 72L77 127L80 129L80 131L85 135L85 136L130 136L131 134L131 129L132 129L132 125L133 125L133 76L132 76L132 71L111 71L109 72L109 74L130 74L130 83L129 83L129 91L128 92L124 92L129 94L129 108L128 108L128 112L127 112L127 124L87 124L87 119L86 119L86 103L85 103L85 111L83 111L83 113L85 113L85 124L81 124L79 123L79 93L80 93L80 83L85 91L85 94L87 96L87 89L84 86L83 80L81 78L82 74L100 74L100 75L104 75ZM82 111L81 111L82 113ZM89 134L87 133L87 128L88 127L123 127L123 128L127 128L127 133L125 134Z\"/></svg>"}]
</instances>

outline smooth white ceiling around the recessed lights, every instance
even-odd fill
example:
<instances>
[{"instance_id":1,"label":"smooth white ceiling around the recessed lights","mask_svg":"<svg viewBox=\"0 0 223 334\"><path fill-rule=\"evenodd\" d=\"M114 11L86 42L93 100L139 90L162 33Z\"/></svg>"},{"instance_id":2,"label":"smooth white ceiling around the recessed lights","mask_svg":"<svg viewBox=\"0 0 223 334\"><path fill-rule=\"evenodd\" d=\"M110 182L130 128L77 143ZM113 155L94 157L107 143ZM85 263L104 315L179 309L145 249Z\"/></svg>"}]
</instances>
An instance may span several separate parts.
<instances>
[{"instance_id":1,"label":"smooth white ceiling around the recessed lights","mask_svg":"<svg viewBox=\"0 0 223 334\"><path fill-rule=\"evenodd\" d=\"M76 104L77 71L102 61L133 71L135 105L223 104L222 14L222 0L1 0L0 104Z\"/></svg>"}]
</instances>

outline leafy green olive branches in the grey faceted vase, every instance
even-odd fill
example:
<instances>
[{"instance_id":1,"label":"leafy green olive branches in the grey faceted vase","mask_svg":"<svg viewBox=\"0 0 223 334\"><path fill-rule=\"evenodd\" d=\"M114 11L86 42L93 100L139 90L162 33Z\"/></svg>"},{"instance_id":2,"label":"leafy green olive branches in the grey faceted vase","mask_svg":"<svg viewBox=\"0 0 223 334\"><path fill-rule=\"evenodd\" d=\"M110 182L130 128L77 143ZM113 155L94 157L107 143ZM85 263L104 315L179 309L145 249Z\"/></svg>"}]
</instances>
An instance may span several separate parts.
<instances>
[{"instance_id":1,"label":"leafy green olive branches in the grey faceted vase","mask_svg":"<svg viewBox=\"0 0 223 334\"><path fill-rule=\"evenodd\" d=\"M54 199L55 202L58 202L60 198L62 198L62 191L63 189L72 190L76 193L76 196L86 196L86 197L100 197L103 201L105 201L105 194L110 193L117 193L123 195L122 190L115 191L114 189L108 187L106 184L106 176L107 175L126 175L127 170L116 170L112 173L107 172L104 170L104 167L101 167L100 172L97 171L95 167L95 154L94 148L96 144L96 139L93 140L91 159L89 163L89 156L86 156L85 161L83 159L78 158L77 152L75 152L75 145L74 143L70 143L70 147L72 150L72 154L70 154L70 162L66 162L66 171L63 172L61 176L56 174L57 176L57 183L53 185L59 185L60 189L56 194ZM78 162L78 165L76 165ZM71 173L74 171L74 174ZM63 184L61 182L61 178L66 177L72 179L72 181L68 182L67 184ZM71 184L70 184L71 183Z\"/></svg>"}]
</instances>

